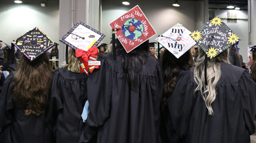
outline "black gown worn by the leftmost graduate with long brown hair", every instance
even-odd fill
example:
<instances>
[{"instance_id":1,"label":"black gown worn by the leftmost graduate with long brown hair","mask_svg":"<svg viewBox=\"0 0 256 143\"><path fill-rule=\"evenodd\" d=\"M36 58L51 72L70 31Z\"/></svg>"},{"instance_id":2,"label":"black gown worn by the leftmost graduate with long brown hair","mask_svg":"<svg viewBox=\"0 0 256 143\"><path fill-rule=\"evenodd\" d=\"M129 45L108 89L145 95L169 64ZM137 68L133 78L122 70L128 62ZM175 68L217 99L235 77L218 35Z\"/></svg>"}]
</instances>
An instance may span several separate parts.
<instances>
[{"instance_id":1,"label":"black gown worn by the leftmost graduate with long brown hair","mask_svg":"<svg viewBox=\"0 0 256 143\"><path fill-rule=\"evenodd\" d=\"M46 127L45 112L40 116L25 116L22 109L16 108L12 98L14 74L4 82L0 94L0 143L52 143L52 135Z\"/></svg>"}]
</instances>

